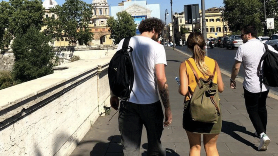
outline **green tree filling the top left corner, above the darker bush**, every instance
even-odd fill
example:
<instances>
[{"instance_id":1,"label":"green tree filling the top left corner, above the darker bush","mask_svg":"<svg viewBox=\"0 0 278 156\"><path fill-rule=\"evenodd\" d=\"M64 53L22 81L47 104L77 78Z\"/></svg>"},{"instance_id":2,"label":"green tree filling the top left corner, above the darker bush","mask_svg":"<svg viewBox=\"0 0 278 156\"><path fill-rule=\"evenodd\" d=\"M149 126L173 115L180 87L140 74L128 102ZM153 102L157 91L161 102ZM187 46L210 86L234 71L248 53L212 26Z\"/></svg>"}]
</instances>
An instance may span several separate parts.
<instances>
[{"instance_id":1,"label":"green tree filling the top left corner, above the darker bush","mask_svg":"<svg viewBox=\"0 0 278 156\"><path fill-rule=\"evenodd\" d=\"M41 30L44 9L40 0L10 0L0 3L0 48L8 47L16 36L30 27Z\"/></svg>"}]
</instances>

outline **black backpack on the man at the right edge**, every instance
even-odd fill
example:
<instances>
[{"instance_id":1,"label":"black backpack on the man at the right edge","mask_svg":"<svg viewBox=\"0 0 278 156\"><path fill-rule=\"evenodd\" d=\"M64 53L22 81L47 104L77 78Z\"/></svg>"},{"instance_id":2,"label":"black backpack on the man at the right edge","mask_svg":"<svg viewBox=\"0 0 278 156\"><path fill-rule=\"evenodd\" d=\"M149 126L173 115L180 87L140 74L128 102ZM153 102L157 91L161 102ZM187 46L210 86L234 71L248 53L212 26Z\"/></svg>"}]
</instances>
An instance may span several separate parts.
<instances>
[{"instance_id":1,"label":"black backpack on the man at the right edge","mask_svg":"<svg viewBox=\"0 0 278 156\"><path fill-rule=\"evenodd\" d=\"M262 92L262 83L271 87L278 87L278 54L270 51L267 44L265 45L265 53L262 55L262 58L259 63L258 70L260 71L260 87ZM263 74L261 71L261 63Z\"/></svg>"}]
</instances>

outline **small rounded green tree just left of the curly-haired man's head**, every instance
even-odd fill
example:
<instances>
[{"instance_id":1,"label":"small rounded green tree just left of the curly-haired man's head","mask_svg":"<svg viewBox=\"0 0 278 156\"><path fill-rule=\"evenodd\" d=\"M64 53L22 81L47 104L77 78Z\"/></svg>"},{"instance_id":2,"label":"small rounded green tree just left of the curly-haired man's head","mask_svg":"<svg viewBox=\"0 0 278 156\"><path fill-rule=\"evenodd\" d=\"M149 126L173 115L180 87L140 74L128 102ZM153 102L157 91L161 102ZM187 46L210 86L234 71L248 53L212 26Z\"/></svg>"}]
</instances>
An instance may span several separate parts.
<instances>
[{"instance_id":1,"label":"small rounded green tree just left of the curly-haired man's head","mask_svg":"<svg viewBox=\"0 0 278 156\"><path fill-rule=\"evenodd\" d=\"M110 27L109 31L114 44L119 44L121 39L135 36L136 24L133 17L126 11L118 12L116 15L117 19L110 17L107 20L107 26Z\"/></svg>"}]
</instances>

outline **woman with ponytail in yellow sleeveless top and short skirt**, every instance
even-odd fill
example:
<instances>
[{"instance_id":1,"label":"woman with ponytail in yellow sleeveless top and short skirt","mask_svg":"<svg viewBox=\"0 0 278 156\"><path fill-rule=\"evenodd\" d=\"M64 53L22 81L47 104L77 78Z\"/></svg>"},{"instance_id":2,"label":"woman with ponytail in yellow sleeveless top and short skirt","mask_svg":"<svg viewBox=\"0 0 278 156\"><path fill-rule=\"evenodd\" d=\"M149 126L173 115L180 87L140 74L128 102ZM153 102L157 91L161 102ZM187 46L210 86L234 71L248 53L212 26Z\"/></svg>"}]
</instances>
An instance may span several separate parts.
<instances>
[{"instance_id":1,"label":"woman with ponytail in yellow sleeveless top and short skirt","mask_svg":"<svg viewBox=\"0 0 278 156\"><path fill-rule=\"evenodd\" d=\"M200 32L192 32L187 39L188 48L192 51L193 56L188 59L192 67L195 69L199 78L208 79L214 71L213 82L218 84L218 91L224 91L224 84L221 77L221 72L216 61L205 56L204 48L206 46L205 39ZM190 156L200 156L201 152L201 134L203 134L203 141L205 152L207 156L219 156L216 142L221 132L222 120L221 115L217 123L203 123L193 121L189 113L190 95L194 92L197 82L194 73L187 61L180 65L179 69L181 85L179 93L185 96L184 110L183 110L183 129L186 130L189 144ZM221 109L220 109L221 114Z\"/></svg>"}]
</instances>

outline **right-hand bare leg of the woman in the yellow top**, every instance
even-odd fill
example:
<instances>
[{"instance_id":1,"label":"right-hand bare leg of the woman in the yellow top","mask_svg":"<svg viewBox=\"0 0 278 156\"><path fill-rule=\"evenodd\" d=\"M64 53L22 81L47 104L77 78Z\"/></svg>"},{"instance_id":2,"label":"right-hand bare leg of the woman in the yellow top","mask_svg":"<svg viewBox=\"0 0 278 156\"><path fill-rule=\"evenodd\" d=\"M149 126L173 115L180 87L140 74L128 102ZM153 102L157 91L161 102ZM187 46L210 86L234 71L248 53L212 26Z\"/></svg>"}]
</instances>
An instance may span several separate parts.
<instances>
[{"instance_id":1,"label":"right-hand bare leg of the woman in the yellow top","mask_svg":"<svg viewBox=\"0 0 278 156\"><path fill-rule=\"evenodd\" d=\"M207 156L219 156L216 142L219 134L204 134L204 146Z\"/></svg>"}]
</instances>

